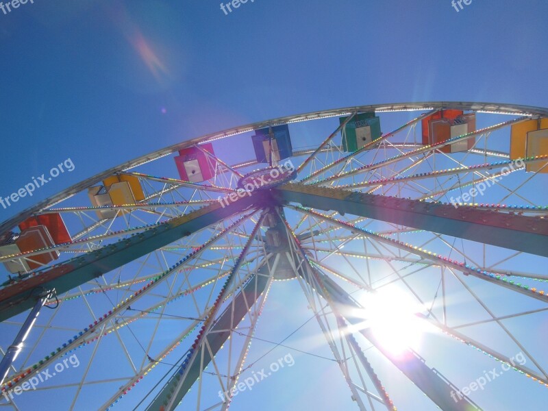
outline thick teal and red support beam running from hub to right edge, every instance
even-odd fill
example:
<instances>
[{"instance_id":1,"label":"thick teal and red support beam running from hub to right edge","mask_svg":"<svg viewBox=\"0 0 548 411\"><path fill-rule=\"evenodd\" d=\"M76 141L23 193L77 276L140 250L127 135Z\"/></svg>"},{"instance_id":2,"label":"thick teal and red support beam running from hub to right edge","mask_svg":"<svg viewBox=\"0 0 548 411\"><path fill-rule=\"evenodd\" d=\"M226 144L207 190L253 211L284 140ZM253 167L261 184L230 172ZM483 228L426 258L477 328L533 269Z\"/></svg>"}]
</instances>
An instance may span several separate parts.
<instances>
[{"instance_id":1,"label":"thick teal and red support beam running from hub to right edge","mask_svg":"<svg viewBox=\"0 0 548 411\"><path fill-rule=\"evenodd\" d=\"M548 219L303 184L279 186L275 196L305 207L336 210L548 257Z\"/></svg>"}]
</instances>

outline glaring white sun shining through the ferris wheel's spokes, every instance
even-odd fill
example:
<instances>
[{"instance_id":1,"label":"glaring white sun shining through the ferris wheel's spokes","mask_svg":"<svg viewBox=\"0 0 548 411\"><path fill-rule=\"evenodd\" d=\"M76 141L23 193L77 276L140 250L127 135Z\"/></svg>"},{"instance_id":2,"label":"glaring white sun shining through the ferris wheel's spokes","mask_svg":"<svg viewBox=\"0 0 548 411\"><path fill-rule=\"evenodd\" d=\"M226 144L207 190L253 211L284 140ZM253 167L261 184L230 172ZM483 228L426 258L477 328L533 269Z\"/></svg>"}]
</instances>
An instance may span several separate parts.
<instances>
[{"instance_id":1,"label":"glaring white sun shining through the ferris wheel's spokes","mask_svg":"<svg viewBox=\"0 0 548 411\"><path fill-rule=\"evenodd\" d=\"M415 315L423 308L397 288L369 293L362 306L365 321L360 328L370 328L382 347L395 356L407 348L418 348L429 330L427 323Z\"/></svg>"}]
</instances>

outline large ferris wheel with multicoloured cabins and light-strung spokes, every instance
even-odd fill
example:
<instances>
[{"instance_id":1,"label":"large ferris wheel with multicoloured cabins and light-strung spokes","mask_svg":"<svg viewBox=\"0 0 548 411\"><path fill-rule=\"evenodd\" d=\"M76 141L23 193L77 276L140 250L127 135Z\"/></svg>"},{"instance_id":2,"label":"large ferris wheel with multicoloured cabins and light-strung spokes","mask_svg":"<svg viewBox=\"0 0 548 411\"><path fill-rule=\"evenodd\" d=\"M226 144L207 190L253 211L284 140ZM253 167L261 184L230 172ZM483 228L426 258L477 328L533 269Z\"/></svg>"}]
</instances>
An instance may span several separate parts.
<instances>
[{"instance_id":1,"label":"large ferris wheel with multicoloured cabins and light-strung spokes","mask_svg":"<svg viewBox=\"0 0 548 411\"><path fill-rule=\"evenodd\" d=\"M358 410L418 409L402 381L482 410L462 387L484 358L540 409L547 186L548 109L496 103L288 116L121 164L0 225L0 410L239 409L277 287Z\"/></svg>"}]
</instances>

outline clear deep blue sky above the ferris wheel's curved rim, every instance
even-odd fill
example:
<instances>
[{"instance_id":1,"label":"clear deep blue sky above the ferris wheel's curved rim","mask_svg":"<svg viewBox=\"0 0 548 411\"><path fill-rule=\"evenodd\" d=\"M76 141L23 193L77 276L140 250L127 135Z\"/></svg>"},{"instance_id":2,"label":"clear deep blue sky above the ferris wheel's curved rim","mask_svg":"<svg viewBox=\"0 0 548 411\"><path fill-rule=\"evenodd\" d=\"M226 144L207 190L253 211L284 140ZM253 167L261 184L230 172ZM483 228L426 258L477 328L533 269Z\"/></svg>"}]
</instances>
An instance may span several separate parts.
<instances>
[{"instance_id":1,"label":"clear deep blue sky above the ferris wheel's curved rim","mask_svg":"<svg viewBox=\"0 0 548 411\"><path fill-rule=\"evenodd\" d=\"M139 155L278 116L401 101L548 106L545 0L473 0L460 12L450 0L255 0L229 15L219 3L34 0L0 11L0 195L75 164L0 208L0 221ZM345 389L336 365L322 372ZM302 359L276 378L297 398L297 382L322 375Z\"/></svg>"}]
</instances>

